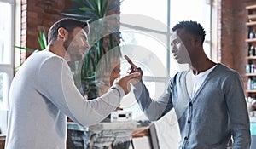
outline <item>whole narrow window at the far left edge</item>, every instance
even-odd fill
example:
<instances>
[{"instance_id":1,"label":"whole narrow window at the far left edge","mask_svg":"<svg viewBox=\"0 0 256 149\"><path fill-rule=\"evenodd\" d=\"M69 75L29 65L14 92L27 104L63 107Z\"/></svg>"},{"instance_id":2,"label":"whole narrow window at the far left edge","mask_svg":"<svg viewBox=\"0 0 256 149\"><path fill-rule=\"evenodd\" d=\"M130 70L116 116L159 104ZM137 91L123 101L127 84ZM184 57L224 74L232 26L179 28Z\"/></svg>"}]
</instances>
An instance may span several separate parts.
<instances>
[{"instance_id":1,"label":"whole narrow window at the far left edge","mask_svg":"<svg viewBox=\"0 0 256 149\"><path fill-rule=\"evenodd\" d=\"M9 86L13 77L14 5L15 0L0 2L0 129L7 128Z\"/></svg>"}]
</instances>

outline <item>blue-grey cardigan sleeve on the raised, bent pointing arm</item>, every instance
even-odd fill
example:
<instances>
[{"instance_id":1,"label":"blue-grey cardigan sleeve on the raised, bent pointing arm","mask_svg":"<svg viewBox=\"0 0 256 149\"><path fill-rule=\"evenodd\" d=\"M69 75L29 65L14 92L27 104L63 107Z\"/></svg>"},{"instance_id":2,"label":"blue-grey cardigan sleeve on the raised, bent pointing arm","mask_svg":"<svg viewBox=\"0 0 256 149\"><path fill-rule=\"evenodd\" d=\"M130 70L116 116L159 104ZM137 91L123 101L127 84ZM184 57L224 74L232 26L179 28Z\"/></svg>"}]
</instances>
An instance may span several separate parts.
<instances>
[{"instance_id":1,"label":"blue-grey cardigan sleeve on the raised, bent pointing arm","mask_svg":"<svg viewBox=\"0 0 256 149\"><path fill-rule=\"evenodd\" d=\"M167 84L165 92L158 100L153 100L149 96L148 89L143 82L134 86L133 93L140 108L151 121L156 121L172 109L171 81Z\"/></svg>"}]
</instances>

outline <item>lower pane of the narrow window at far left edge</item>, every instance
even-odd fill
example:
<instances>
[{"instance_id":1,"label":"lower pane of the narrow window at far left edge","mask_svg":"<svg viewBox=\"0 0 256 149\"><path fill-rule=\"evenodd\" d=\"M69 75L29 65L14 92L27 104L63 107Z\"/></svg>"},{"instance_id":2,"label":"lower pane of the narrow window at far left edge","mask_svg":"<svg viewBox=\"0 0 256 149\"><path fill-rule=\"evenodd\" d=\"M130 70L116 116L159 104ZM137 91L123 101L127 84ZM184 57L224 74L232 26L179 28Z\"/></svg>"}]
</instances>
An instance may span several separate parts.
<instances>
[{"instance_id":1,"label":"lower pane of the narrow window at far left edge","mask_svg":"<svg viewBox=\"0 0 256 149\"><path fill-rule=\"evenodd\" d=\"M9 77L7 73L0 72L0 110L7 110L9 91Z\"/></svg>"}]
</instances>

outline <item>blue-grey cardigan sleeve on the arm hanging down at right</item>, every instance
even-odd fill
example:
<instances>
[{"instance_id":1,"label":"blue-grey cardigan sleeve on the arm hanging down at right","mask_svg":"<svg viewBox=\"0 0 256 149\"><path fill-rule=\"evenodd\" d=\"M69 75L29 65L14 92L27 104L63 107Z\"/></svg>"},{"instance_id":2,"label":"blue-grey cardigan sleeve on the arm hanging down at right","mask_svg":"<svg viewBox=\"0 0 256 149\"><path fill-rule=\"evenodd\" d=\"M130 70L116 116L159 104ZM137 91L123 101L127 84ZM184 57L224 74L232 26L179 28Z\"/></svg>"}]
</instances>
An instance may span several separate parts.
<instances>
[{"instance_id":1,"label":"blue-grey cardigan sleeve on the arm hanging down at right","mask_svg":"<svg viewBox=\"0 0 256 149\"><path fill-rule=\"evenodd\" d=\"M249 149L251 144L250 123L243 90L241 77L236 72L224 81L224 95L230 115L234 149Z\"/></svg>"}]
</instances>

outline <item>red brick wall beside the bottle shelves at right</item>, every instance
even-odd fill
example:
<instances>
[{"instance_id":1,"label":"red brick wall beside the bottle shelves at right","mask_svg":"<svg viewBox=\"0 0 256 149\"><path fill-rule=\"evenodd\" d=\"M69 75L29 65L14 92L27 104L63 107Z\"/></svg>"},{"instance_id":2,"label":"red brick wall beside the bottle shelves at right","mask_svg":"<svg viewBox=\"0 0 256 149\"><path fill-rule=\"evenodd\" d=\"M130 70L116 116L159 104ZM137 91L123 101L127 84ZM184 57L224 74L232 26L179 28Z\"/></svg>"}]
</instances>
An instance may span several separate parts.
<instances>
[{"instance_id":1,"label":"red brick wall beside the bottle shelves at right","mask_svg":"<svg viewBox=\"0 0 256 149\"><path fill-rule=\"evenodd\" d=\"M235 69L246 86L247 60L247 5L256 0L218 0L218 60Z\"/></svg>"}]
</instances>

